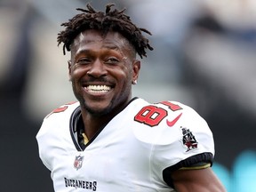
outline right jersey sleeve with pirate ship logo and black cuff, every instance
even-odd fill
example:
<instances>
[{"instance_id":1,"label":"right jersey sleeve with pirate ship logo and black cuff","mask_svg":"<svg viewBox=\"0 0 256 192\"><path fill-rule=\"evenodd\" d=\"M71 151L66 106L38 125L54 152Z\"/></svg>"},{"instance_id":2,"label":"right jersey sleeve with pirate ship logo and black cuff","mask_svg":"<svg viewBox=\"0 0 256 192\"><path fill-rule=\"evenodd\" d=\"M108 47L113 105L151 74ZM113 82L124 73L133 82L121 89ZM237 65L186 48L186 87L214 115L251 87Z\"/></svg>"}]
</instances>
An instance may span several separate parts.
<instances>
[{"instance_id":1,"label":"right jersey sleeve with pirate ship logo and black cuff","mask_svg":"<svg viewBox=\"0 0 256 192\"><path fill-rule=\"evenodd\" d=\"M204 168L202 164L212 164L214 156L212 131L204 118L193 108L176 104L181 109L169 113L159 124L161 133L156 138L151 159L154 175L170 186L173 171L194 165Z\"/></svg>"}]
</instances>

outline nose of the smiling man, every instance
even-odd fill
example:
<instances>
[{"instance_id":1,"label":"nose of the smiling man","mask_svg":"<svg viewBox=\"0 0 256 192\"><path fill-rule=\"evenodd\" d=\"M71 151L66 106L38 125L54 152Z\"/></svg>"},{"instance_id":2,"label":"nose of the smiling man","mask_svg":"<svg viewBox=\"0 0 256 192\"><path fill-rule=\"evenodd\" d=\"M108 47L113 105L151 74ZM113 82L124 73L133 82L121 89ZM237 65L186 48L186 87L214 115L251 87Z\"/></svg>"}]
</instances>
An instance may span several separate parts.
<instances>
[{"instance_id":1,"label":"nose of the smiling man","mask_svg":"<svg viewBox=\"0 0 256 192\"><path fill-rule=\"evenodd\" d=\"M87 71L87 75L93 77L106 76L107 70L105 67L104 63L97 59L92 63L91 68Z\"/></svg>"}]
</instances>

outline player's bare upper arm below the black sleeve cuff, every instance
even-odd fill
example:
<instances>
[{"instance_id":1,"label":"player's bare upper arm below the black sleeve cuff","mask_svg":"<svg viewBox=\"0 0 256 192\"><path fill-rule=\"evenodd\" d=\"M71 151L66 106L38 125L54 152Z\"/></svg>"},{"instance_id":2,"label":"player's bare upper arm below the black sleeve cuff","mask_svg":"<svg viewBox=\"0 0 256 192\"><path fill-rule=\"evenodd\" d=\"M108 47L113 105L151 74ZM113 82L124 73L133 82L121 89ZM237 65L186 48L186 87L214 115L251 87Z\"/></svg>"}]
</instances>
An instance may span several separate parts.
<instances>
[{"instance_id":1,"label":"player's bare upper arm below the black sleeve cuff","mask_svg":"<svg viewBox=\"0 0 256 192\"><path fill-rule=\"evenodd\" d=\"M171 177L171 175L170 175ZM174 188L178 192L204 191L225 192L226 189L220 183L212 169L177 170L172 172Z\"/></svg>"}]
</instances>

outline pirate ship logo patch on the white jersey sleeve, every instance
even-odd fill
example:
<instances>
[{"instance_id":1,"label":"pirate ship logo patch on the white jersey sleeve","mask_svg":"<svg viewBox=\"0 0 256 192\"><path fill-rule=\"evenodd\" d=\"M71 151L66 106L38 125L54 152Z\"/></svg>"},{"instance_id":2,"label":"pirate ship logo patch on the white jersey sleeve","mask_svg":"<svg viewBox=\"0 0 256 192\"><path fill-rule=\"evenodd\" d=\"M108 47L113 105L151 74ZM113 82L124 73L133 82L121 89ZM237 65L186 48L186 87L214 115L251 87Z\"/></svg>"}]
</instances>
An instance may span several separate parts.
<instances>
[{"instance_id":1,"label":"pirate ship logo patch on the white jersey sleeve","mask_svg":"<svg viewBox=\"0 0 256 192\"><path fill-rule=\"evenodd\" d=\"M190 130L186 127L181 126L180 129L181 129L182 135L183 135L182 143L187 148L186 152L188 152L192 149L196 149L198 142L196 141L196 138L193 135L193 133L190 132Z\"/></svg>"}]
</instances>

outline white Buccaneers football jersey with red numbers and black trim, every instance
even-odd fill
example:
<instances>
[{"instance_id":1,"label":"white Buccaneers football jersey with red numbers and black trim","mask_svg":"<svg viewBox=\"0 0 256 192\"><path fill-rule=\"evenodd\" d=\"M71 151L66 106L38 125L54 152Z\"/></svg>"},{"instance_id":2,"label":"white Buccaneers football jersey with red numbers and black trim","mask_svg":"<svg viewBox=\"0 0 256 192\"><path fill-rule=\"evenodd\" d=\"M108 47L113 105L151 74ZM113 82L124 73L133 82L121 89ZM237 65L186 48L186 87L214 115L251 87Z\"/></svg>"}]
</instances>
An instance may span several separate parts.
<instances>
[{"instance_id":1,"label":"white Buccaneers football jersey with red numbers and black trim","mask_svg":"<svg viewBox=\"0 0 256 192\"><path fill-rule=\"evenodd\" d=\"M44 118L36 135L57 192L170 192L172 171L212 163L212 132L179 102L133 99L84 150L76 136L79 115L78 102L63 105Z\"/></svg>"}]
</instances>

